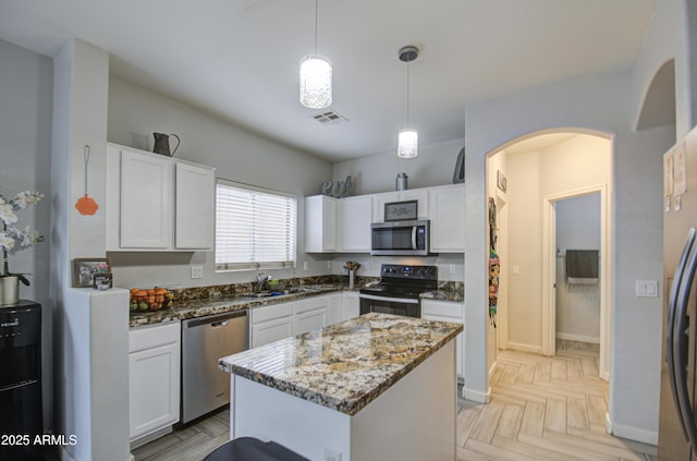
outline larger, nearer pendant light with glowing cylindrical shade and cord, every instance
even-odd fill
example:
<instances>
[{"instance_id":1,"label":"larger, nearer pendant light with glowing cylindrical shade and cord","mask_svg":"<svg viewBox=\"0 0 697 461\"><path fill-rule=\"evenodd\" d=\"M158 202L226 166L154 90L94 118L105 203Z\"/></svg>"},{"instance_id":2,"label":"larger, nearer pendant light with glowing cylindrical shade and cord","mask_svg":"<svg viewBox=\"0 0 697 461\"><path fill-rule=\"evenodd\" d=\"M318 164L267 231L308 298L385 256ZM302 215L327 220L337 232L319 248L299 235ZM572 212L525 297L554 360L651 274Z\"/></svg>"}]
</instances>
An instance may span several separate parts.
<instances>
[{"instance_id":1,"label":"larger, nearer pendant light with glowing cylindrical shade and cord","mask_svg":"<svg viewBox=\"0 0 697 461\"><path fill-rule=\"evenodd\" d=\"M331 106L331 61L317 54L317 0L315 0L315 53L301 59L301 104L310 109Z\"/></svg>"}]
</instances>

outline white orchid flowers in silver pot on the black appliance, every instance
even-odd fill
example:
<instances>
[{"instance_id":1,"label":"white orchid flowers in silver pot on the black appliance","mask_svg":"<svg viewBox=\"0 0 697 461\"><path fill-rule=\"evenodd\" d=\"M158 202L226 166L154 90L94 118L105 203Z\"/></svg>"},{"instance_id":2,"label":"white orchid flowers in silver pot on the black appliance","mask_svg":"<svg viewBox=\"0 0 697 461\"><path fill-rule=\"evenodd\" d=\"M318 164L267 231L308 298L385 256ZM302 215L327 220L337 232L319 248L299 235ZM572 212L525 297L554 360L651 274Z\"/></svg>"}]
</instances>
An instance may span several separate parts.
<instances>
[{"instance_id":1,"label":"white orchid flowers in silver pot on the black appliance","mask_svg":"<svg viewBox=\"0 0 697 461\"><path fill-rule=\"evenodd\" d=\"M26 226L20 229L15 223L19 218L16 211L26 209L37 204L44 198L44 194L38 192L20 192L14 198L8 201L0 195L0 219L2 230L0 231L0 248L2 248L2 272L0 272L0 305L16 304L20 298L20 282L29 286L29 280L25 274L13 274L10 271L9 254L16 253L32 246L34 243L42 242L44 235L37 230Z\"/></svg>"}]
</instances>

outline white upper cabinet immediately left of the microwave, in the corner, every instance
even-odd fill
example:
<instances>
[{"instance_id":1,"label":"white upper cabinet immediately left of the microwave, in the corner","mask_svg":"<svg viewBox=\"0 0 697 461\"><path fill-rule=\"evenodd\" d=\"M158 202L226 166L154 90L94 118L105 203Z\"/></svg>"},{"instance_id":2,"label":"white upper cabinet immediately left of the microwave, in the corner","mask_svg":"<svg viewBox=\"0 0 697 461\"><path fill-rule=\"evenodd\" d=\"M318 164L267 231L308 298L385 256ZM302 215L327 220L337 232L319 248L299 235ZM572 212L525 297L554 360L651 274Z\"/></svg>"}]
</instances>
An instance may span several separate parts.
<instances>
[{"instance_id":1,"label":"white upper cabinet immediately left of the microwave, in the corner","mask_svg":"<svg viewBox=\"0 0 697 461\"><path fill-rule=\"evenodd\" d=\"M369 253L372 197L358 195L342 198L339 205L341 208L341 251Z\"/></svg>"}]
</instances>

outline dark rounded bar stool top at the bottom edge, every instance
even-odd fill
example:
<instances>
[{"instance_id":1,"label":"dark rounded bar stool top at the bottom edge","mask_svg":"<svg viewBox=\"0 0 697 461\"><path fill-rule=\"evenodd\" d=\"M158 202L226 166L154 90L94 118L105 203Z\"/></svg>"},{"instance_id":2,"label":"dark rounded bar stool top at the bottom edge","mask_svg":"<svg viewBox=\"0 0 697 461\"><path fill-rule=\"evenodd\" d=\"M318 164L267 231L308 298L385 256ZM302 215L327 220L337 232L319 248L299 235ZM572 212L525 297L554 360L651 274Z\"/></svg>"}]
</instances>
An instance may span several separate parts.
<instances>
[{"instance_id":1,"label":"dark rounded bar stool top at the bottom edge","mask_svg":"<svg viewBox=\"0 0 697 461\"><path fill-rule=\"evenodd\" d=\"M274 441L240 437L208 453L204 461L309 461Z\"/></svg>"}]
</instances>

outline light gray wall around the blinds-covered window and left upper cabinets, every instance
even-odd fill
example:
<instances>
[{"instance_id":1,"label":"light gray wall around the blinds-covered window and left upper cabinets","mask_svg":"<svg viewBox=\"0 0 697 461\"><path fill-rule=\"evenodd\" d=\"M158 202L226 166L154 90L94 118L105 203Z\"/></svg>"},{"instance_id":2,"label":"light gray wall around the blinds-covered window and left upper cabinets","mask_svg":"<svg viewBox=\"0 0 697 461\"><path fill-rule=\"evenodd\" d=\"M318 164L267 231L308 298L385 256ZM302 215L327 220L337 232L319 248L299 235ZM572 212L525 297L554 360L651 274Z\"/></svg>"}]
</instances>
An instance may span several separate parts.
<instances>
[{"instance_id":1,"label":"light gray wall around the blinds-covered window and left upper cabinets","mask_svg":"<svg viewBox=\"0 0 697 461\"><path fill-rule=\"evenodd\" d=\"M305 253L304 197L321 192L331 177L329 162L244 131L197 109L127 82L109 81L108 141L152 150L152 132L175 133L182 139L174 157L216 168L218 178L290 192L298 198L296 269L268 270L276 278L329 274L331 256ZM171 142L171 147L175 141ZM198 287L256 280L256 271L215 272L211 252L110 253L114 284ZM303 262L309 270L303 271ZM204 266L204 278L191 278L191 265ZM331 266L331 264L330 264Z\"/></svg>"}]
</instances>

